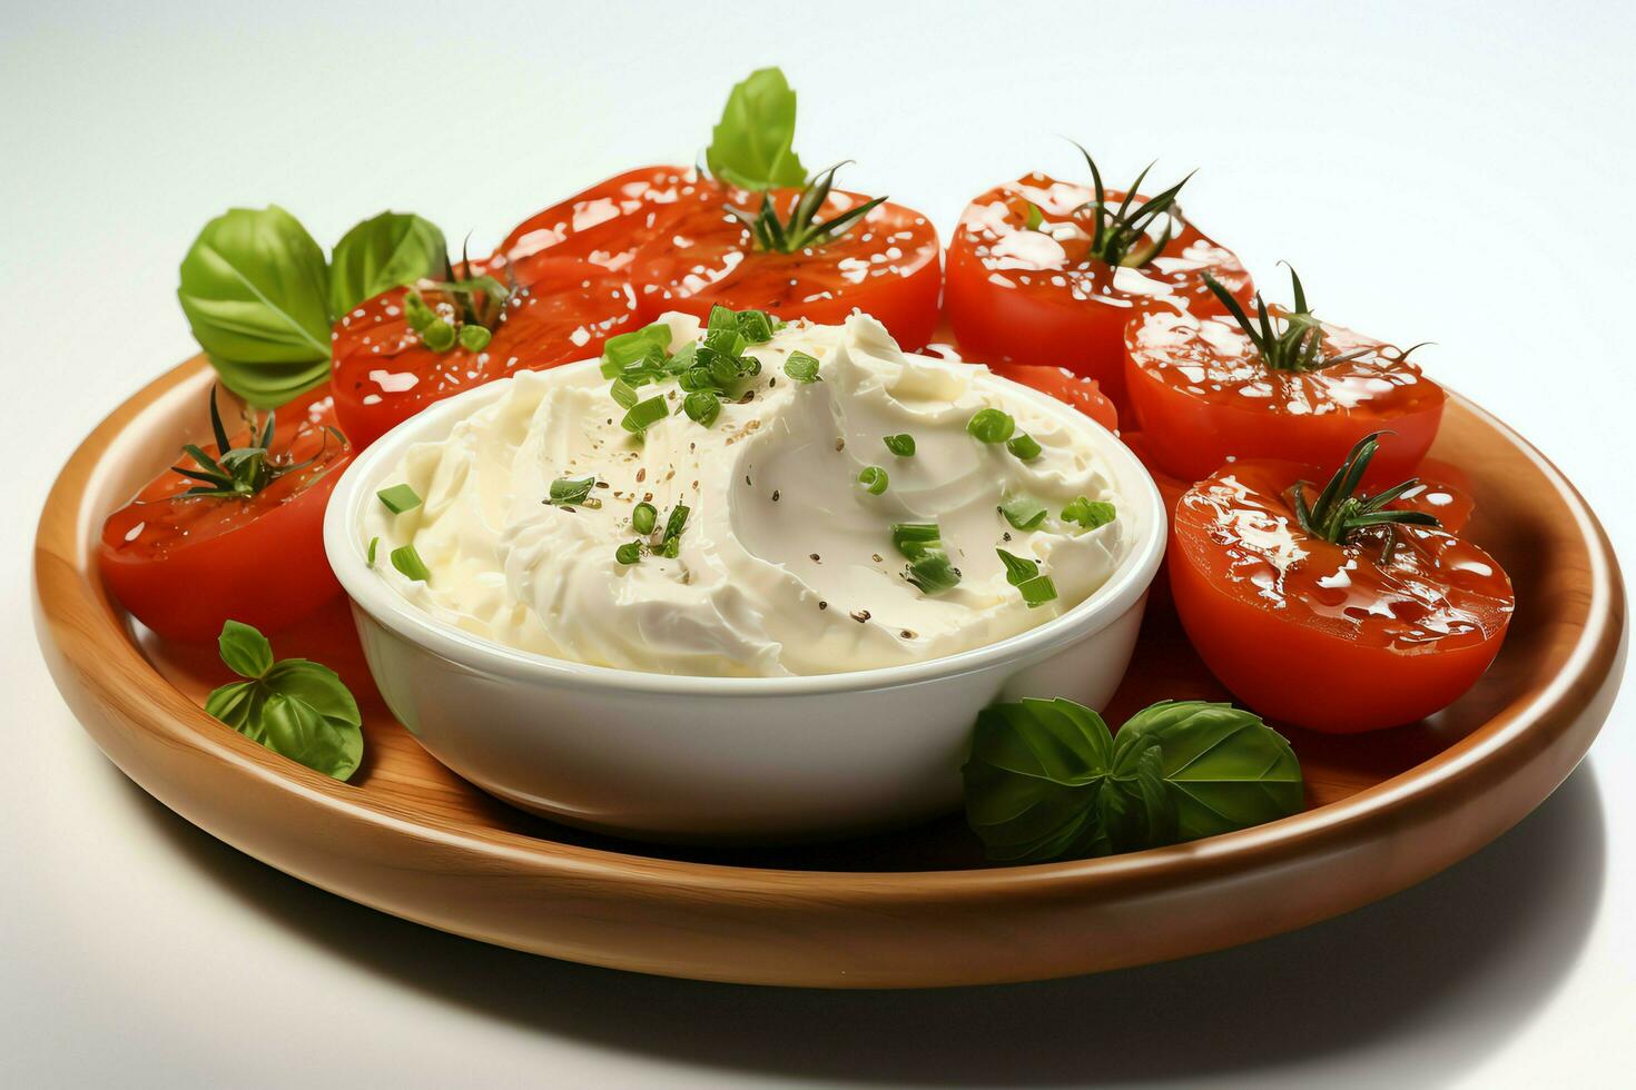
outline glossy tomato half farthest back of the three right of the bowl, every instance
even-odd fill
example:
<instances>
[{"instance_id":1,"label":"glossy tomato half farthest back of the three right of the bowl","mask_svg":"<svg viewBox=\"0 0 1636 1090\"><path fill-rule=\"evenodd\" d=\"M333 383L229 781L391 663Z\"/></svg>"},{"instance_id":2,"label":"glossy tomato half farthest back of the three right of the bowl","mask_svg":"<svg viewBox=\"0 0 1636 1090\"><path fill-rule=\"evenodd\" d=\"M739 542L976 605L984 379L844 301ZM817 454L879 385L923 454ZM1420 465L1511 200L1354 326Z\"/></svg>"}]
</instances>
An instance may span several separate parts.
<instances>
[{"instance_id":1,"label":"glossy tomato half farthest back of the three right of the bowl","mask_svg":"<svg viewBox=\"0 0 1636 1090\"><path fill-rule=\"evenodd\" d=\"M1124 409L1124 327L1155 307L1214 314L1211 273L1235 297L1255 294L1238 258L1180 212L1165 252L1144 268L1086 258L1090 186L1042 173L995 186L972 201L949 243L944 310L962 355L1062 366L1101 382ZM1124 199L1112 191L1109 201ZM1029 230L1029 204L1042 230Z\"/></svg>"}]
</instances>

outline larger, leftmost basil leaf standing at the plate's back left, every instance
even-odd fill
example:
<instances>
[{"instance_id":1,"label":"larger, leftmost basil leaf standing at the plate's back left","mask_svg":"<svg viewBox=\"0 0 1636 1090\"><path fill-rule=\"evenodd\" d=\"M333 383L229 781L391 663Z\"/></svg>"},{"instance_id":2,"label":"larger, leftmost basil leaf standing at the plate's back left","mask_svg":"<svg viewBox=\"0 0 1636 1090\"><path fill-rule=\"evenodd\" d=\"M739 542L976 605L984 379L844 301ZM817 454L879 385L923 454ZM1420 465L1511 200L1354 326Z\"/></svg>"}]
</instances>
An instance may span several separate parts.
<instances>
[{"instance_id":1,"label":"larger, leftmost basil leaf standing at the plate's back left","mask_svg":"<svg viewBox=\"0 0 1636 1090\"><path fill-rule=\"evenodd\" d=\"M177 297L222 384L276 407L329 377L329 266L294 216L236 208L182 258Z\"/></svg>"}]
</instances>

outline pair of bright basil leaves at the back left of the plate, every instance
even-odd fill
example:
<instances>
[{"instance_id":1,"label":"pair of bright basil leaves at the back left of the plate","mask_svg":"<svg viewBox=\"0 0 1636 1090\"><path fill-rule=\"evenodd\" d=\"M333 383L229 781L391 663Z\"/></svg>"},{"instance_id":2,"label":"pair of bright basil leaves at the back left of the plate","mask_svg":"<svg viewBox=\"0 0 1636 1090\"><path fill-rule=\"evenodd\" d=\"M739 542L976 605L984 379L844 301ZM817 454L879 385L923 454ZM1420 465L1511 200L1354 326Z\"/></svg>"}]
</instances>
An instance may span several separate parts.
<instances>
[{"instance_id":1,"label":"pair of bright basil leaves at the back left of the plate","mask_svg":"<svg viewBox=\"0 0 1636 1090\"><path fill-rule=\"evenodd\" d=\"M335 245L334 268L294 216L270 204L204 224L177 297L222 386L276 409L329 377L330 325L360 301L447 266L443 232L383 212Z\"/></svg>"}]
</instances>

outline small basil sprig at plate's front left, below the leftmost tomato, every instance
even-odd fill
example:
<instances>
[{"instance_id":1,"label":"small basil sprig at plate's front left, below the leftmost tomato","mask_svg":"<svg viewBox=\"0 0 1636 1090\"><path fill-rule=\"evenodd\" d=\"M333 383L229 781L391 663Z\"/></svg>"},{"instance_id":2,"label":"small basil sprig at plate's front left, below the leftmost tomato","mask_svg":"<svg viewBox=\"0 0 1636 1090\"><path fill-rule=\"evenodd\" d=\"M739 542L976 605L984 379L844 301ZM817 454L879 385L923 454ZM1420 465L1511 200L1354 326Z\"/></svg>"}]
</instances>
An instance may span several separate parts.
<instances>
[{"instance_id":1,"label":"small basil sprig at plate's front left, below the leftmost tomato","mask_svg":"<svg viewBox=\"0 0 1636 1090\"><path fill-rule=\"evenodd\" d=\"M275 753L335 780L363 760L363 719L334 670L306 659L273 662L273 647L249 624L221 628L221 660L245 681L209 695L204 711Z\"/></svg>"}]
</instances>

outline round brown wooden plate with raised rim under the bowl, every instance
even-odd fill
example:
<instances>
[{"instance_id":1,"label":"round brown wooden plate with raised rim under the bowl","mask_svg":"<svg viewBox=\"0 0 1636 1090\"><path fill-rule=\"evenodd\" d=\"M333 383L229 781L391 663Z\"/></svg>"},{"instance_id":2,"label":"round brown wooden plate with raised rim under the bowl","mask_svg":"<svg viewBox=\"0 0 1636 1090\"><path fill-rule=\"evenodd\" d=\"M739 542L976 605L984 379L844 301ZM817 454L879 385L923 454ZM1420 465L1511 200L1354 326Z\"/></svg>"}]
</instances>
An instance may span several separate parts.
<instances>
[{"instance_id":1,"label":"round brown wooden plate with raised rim under the bowl","mask_svg":"<svg viewBox=\"0 0 1636 1090\"><path fill-rule=\"evenodd\" d=\"M1436 456L1469 471L1469 533L1517 583L1499 662L1454 708L1363 737L1291 730L1307 812L1111 860L985 868L959 817L789 850L654 848L512 811L427 757L386 713L337 603L275 637L340 670L365 713L353 784L206 716L214 649L133 632L93 546L110 510L200 438L195 358L85 440L46 503L36 621L70 708L119 768L193 824L308 882L517 949L754 984L913 987L1070 976L1276 935L1404 889L1494 840L1584 757L1625 655L1607 536L1513 431L1453 399ZM1155 595L1109 717L1222 696Z\"/></svg>"}]
</instances>

